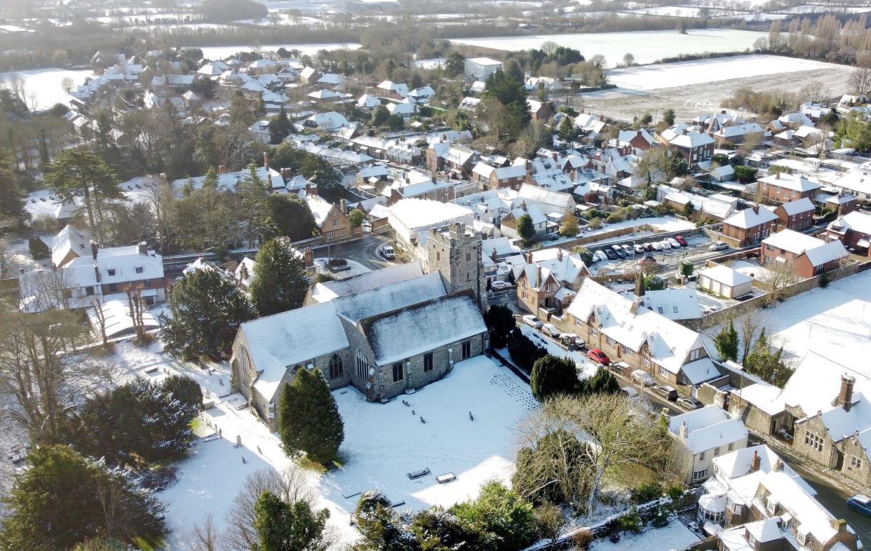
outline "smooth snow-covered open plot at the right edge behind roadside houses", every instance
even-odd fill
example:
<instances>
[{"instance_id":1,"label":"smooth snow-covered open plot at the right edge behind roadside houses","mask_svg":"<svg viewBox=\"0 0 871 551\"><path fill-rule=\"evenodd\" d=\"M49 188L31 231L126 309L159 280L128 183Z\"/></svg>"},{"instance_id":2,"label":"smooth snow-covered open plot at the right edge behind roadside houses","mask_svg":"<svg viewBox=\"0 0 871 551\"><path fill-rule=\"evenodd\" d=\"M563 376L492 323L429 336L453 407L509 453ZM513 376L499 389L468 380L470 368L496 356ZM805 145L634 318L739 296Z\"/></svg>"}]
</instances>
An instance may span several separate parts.
<instances>
[{"instance_id":1,"label":"smooth snow-covered open plot at the right edge behind roadside houses","mask_svg":"<svg viewBox=\"0 0 871 551\"><path fill-rule=\"evenodd\" d=\"M801 359L814 349L843 366L871 358L871 272L835 281L826 288L787 299L754 315L784 357ZM743 318L736 320L736 326ZM739 329L740 333L740 329Z\"/></svg>"}]
</instances>

